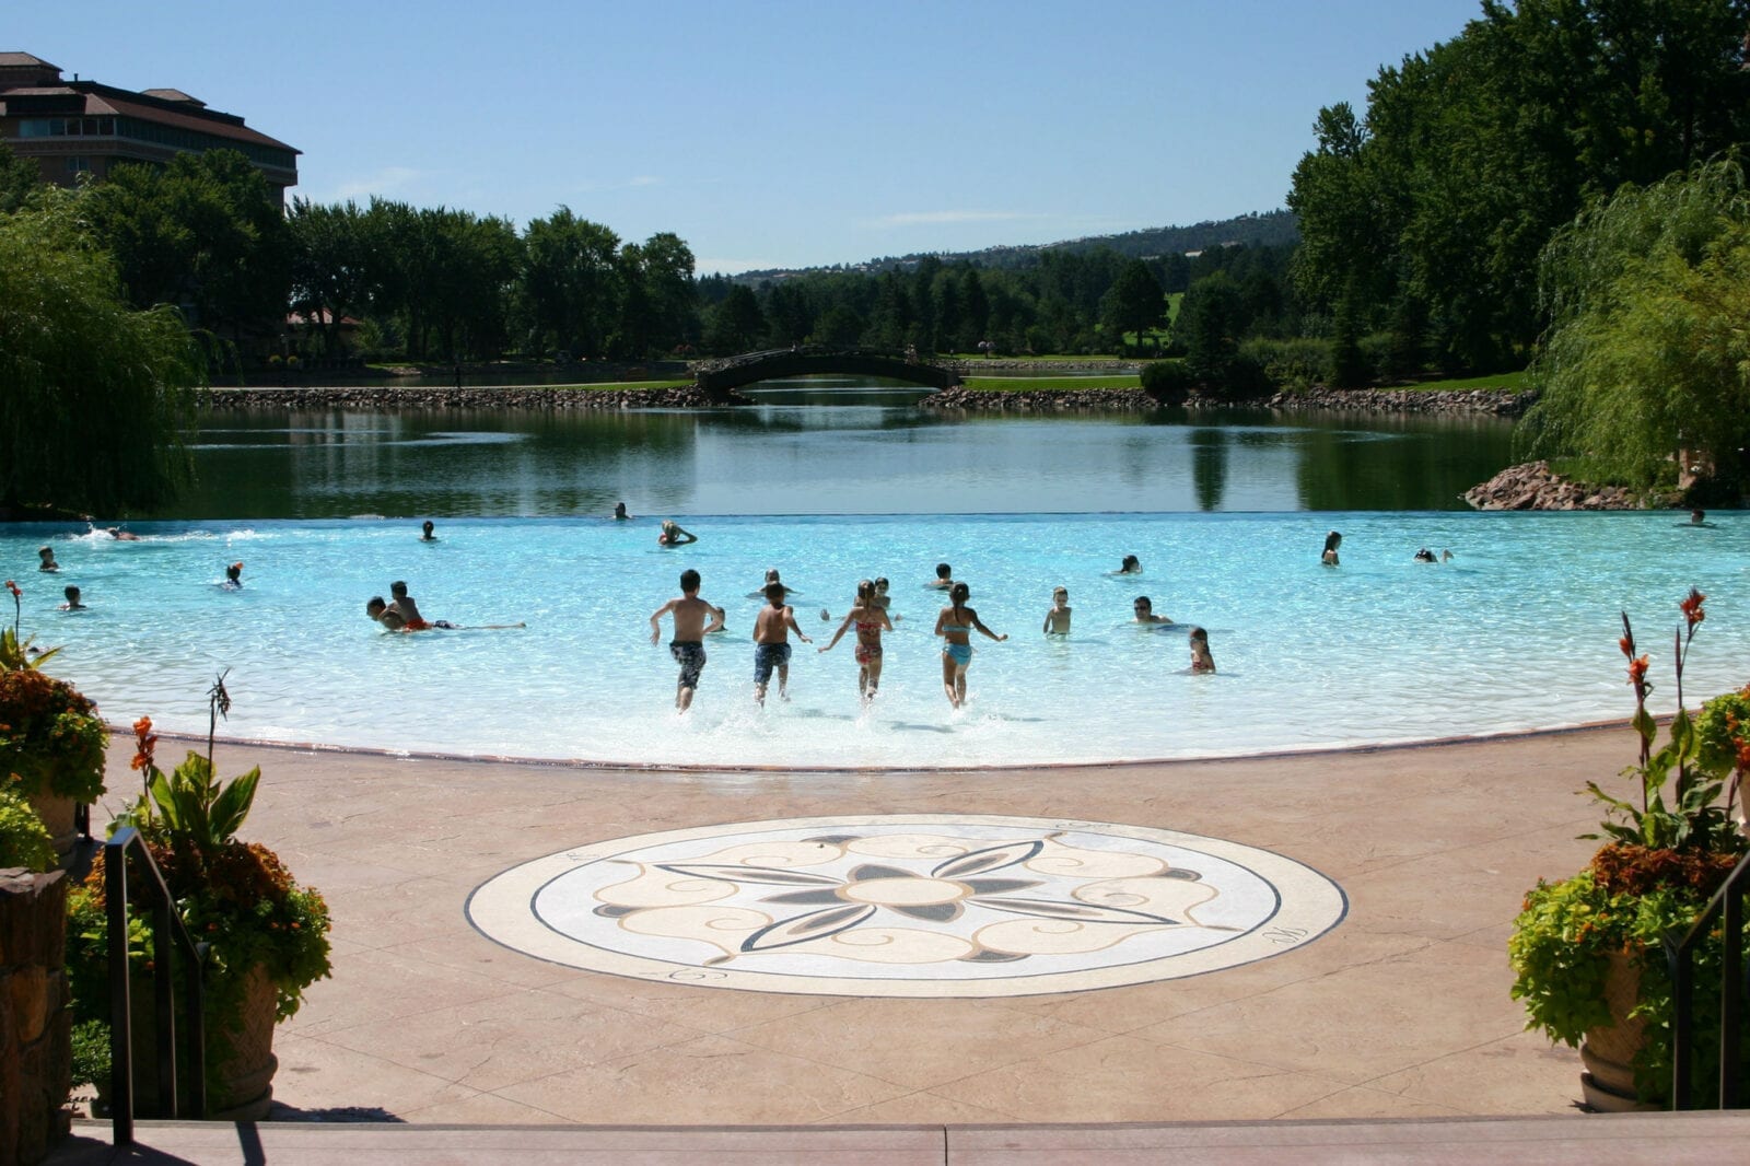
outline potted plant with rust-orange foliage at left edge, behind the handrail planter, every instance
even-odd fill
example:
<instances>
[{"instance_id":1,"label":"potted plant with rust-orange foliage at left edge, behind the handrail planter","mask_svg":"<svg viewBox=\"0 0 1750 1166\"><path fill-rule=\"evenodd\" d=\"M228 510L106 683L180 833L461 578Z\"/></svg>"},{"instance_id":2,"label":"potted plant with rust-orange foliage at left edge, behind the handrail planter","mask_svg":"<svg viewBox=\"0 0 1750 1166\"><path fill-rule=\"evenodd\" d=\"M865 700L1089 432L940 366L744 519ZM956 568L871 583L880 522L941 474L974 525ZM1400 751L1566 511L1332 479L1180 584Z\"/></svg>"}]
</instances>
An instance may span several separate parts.
<instances>
[{"instance_id":1,"label":"potted plant with rust-orange foliage at left edge, behind the handrail planter","mask_svg":"<svg viewBox=\"0 0 1750 1166\"><path fill-rule=\"evenodd\" d=\"M108 734L96 706L40 669L58 650L33 653L19 641L23 592L12 579L12 627L0 630L0 779L10 777L65 858L74 847L74 809L103 793Z\"/></svg>"}]
</instances>

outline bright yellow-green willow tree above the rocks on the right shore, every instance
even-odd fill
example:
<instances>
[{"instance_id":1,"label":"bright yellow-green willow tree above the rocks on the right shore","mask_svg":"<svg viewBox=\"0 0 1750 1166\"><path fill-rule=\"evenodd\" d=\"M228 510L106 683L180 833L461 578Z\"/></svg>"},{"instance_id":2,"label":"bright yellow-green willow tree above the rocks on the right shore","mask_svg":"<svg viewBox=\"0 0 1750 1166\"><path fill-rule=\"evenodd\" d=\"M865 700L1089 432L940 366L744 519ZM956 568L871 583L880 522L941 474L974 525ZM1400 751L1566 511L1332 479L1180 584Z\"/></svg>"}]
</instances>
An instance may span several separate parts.
<instances>
[{"instance_id":1,"label":"bright yellow-green willow tree above the rocks on the right shore","mask_svg":"<svg viewBox=\"0 0 1750 1166\"><path fill-rule=\"evenodd\" d=\"M1521 425L1536 457L1670 485L1678 460L1731 483L1750 438L1750 191L1734 161L1622 187L1540 261L1550 327Z\"/></svg>"}]
</instances>

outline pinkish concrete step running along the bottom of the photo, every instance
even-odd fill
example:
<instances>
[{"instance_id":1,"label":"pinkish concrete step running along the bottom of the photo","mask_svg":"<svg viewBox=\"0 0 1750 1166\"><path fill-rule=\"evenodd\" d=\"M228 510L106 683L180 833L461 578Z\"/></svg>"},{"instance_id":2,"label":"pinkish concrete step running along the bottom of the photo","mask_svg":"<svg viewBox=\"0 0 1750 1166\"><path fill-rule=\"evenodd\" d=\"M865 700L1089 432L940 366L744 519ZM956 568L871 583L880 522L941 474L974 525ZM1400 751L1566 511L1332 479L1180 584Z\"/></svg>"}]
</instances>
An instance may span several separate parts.
<instances>
[{"instance_id":1,"label":"pinkish concrete step running along the bottom of the photo","mask_svg":"<svg viewBox=\"0 0 1750 1166\"><path fill-rule=\"evenodd\" d=\"M140 1122L136 1145L75 1122L49 1166L1540 1166L1745 1161L1750 1112L1115 1126L418 1126Z\"/></svg>"}]
</instances>

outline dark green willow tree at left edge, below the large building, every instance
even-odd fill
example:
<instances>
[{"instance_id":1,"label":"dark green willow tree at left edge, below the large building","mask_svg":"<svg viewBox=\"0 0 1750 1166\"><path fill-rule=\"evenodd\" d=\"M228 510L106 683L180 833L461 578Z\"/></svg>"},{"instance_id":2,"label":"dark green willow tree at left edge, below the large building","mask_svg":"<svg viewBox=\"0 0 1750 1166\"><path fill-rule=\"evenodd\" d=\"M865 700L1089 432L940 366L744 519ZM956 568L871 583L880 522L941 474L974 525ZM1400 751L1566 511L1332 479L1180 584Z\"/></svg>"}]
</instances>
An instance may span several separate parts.
<instances>
[{"instance_id":1,"label":"dark green willow tree at left edge, below the large building","mask_svg":"<svg viewBox=\"0 0 1750 1166\"><path fill-rule=\"evenodd\" d=\"M82 194L0 215L0 511L152 509L189 478L203 361L140 312L80 226Z\"/></svg>"}]
</instances>

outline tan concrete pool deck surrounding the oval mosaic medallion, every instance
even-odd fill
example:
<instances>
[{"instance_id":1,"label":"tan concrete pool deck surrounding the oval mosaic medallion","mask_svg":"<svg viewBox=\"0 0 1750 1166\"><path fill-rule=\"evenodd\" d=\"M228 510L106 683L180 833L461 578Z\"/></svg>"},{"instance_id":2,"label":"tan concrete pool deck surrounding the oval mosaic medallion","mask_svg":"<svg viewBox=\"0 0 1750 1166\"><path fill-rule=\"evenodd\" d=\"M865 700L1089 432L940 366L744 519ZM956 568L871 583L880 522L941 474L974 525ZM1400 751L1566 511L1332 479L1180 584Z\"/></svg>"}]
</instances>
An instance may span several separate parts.
<instances>
[{"instance_id":1,"label":"tan concrete pool deck surrounding the oval mosaic medallion","mask_svg":"<svg viewBox=\"0 0 1750 1166\"><path fill-rule=\"evenodd\" d=\"M166 741L161 760L182 746ZM1587 860L1596 844L1575 835L1598 812L1577 791L1633 749L1614 727L996 772L618 772L242 744L217 760L222 774L262 767L245 837L334 917L334 977L275 1043L278 1117L964 1126L1575 1113L1578 1056L1522 1031L1507 933L1540 875ZM117 790L130 756L117 737ZM1225 839L1330 877L1348 916L1242 966L1001 1000L623 979L500 947L466 916L480 884L567 847L868 814Z\"/></svg>"}]
</instances>

